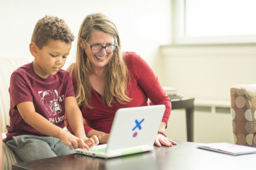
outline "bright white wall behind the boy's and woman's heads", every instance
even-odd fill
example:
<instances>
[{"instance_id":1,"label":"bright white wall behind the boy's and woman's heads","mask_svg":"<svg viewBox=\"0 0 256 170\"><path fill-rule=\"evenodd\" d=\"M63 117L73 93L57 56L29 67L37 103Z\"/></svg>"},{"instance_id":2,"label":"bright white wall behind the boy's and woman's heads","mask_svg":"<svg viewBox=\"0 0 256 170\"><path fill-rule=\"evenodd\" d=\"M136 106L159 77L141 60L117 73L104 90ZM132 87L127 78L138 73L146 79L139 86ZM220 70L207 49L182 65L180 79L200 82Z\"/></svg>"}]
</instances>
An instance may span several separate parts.
<instances>
[{"instance_id":1,"label":"bright white wall behind the boy's and woman's heads","mask_svg":"<svg viewBox=\"0 0 256 170\"><path fill-rule=\"evenodd\" d=\"M116 24L123 51L135 51L152 67L157 49L171 42L170 0L0 0L0 56L32 57L29 42L38 19L63 18L74 35L87 14L102 12ZM76 41L64 69L75 61Z\"/></svg>"}]
</instances>

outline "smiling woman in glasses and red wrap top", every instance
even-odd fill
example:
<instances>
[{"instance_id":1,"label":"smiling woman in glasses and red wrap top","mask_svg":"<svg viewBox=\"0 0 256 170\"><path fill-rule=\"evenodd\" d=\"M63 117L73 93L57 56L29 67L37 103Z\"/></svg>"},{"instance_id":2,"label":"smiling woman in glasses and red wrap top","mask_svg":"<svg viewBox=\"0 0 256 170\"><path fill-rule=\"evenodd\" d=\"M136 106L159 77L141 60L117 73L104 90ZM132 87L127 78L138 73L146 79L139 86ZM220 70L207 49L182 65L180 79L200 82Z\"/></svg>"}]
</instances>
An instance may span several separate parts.
<instances>
[{"instance_id":1,"label":"smiling woman in glasses and red wrap top","mask_svg":"<svg viewBox=\"0 0 256 170\"><path fill-rule=\"evenodd\" d=\"M172 146L165 128L171 101L148 64L134 52L122 53L115 24L103 14L88 15L79 31L76 63L67 69L73 79L76 99L85 119L88 137L108 142L115 112L119 108L164 104L155 144ZM66 120L67 122L67 120ZM67 128L71 128L67 122Z\"/></svg>"}]
</instances>

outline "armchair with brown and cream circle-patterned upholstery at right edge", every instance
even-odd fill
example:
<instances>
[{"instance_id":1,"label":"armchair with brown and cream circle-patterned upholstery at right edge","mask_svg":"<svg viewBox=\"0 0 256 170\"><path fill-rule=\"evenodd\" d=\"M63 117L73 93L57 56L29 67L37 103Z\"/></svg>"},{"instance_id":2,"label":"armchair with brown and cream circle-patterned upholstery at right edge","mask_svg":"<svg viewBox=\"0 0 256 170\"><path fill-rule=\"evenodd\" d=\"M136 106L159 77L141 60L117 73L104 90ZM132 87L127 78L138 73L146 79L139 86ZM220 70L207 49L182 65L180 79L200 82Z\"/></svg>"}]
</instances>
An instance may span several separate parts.
<instances>
[{"instance_id":1,"label":"armchair with brown and cream circle-patterned upholstery at right edge","mask_svg":"<svg viewBox=\"0 0 256 170\"><path fill-rule=\"evenodd\" d=\"M234 143L256 147L256 84L230 88Z\"/></svg>"}]
</instances>

